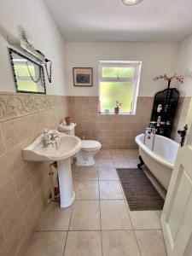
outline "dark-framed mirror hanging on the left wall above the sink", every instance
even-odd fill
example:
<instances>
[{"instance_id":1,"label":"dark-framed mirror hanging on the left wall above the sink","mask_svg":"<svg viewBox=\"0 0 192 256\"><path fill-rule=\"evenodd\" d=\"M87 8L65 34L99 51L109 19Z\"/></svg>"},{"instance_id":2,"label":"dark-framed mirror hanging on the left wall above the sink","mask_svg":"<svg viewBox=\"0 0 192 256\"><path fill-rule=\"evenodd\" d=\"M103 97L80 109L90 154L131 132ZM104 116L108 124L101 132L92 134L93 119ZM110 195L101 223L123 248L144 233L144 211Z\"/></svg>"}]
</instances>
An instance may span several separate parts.
<instances>
[{"instance_id":1,"label":"dark-framed mirror hanging on the left wall above the sink","mask_svg":"<svg viewBox=\"0 0 192 256\"><path fill-rule=\"evenodd\" d=\"M9 48L17 92L46 94L44 67L15 49Z\"/></svg>"}]
</instances>

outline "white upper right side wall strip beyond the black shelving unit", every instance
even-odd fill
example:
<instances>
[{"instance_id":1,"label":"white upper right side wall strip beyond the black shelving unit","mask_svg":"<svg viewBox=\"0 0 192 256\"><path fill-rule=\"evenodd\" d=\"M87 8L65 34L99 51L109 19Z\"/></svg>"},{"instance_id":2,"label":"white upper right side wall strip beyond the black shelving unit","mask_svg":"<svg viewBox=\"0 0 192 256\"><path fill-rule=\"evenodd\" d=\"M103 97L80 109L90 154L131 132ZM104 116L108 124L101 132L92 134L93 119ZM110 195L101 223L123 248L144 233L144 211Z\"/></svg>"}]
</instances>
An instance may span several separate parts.
<instances>
[{"instance_id":1,"label":"white upper right side wall strip beyond the black shelving unit","mask_svg":"<svg viewBox=\"0 0 192 256\"><path fill-rule=\"evenodd\" d=\"M184 76L180 86L183 96L192 96L192 35L179 44L178 73Z\"/></svg>"}]
</instances>

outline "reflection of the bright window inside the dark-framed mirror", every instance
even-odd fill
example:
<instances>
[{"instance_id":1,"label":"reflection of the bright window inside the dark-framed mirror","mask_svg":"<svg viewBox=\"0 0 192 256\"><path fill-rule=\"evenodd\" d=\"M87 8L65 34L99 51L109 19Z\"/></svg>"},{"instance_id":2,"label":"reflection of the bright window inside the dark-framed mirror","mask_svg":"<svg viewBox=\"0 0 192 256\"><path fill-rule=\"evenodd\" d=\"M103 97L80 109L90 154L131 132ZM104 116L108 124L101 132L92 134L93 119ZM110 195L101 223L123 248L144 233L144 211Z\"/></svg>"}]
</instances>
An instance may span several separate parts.
<instances>
[{"instance_id":1,"label":"reflection of the bright window inside the dark-framed mirror","mask_svg":"<svg viewBox=\"0 0 192 256\"><path fill-rule=\"evenodd\" d=\"M35 77L35 69L33 65L29 65L30 72ZM26 64L15 65L15 74L17 76L18 90L38 91L37 84L34 83L29 75Z\"/></svg>"}]
</instances>

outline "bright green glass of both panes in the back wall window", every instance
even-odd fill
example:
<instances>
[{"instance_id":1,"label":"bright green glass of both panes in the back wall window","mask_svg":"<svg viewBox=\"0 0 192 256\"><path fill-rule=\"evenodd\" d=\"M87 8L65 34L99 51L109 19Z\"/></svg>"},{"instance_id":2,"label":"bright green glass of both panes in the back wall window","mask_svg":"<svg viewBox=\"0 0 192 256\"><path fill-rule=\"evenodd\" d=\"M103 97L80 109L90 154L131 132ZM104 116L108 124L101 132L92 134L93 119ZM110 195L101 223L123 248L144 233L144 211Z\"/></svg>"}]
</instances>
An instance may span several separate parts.
<instances>
[{"instance_id":1,"label":"bright green glass of both panes in the back wall window","mask_svg":"<svg viewBox=\"0 0 192 256\"><path fill-rule=\"evenodd\" d=\"M131 111L134 83L122 82L119 79L132 79L134 72L134 67L102 67L102 78L105 80L100 82L102 112L109 109L113 113L117 101L122 103L120 112ZM113 81L106 81L108 79L113 79Z\"/></svg>"}]
</instances>

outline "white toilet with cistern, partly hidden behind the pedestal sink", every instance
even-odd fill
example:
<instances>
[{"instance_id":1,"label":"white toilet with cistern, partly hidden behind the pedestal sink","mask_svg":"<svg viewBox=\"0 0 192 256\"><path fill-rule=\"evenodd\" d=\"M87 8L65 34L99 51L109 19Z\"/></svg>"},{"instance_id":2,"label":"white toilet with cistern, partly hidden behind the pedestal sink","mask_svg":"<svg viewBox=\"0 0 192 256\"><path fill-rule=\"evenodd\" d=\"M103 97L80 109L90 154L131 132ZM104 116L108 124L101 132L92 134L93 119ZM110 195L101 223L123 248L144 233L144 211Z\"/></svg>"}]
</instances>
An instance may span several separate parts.
<instances>
[{"instance_id":1,"label":"white toilet with cistern, partly hidden behind the pedestal sink","mask_svg":"<svg viewBox=\"0 0 192 256\"><path fill-rule=\"evenodd\" d=\"M59 125L59 131L64 132L68 135L75 135L75 126L72 125ZM102 144L97 141L91 140L82 140L81 150L75 155L76 157L76 166L94 166L95 160L94 155L99 152L99 149L102 148Z\"/></svg>"}]
</instances>

